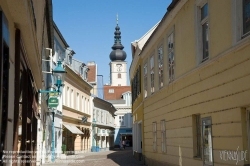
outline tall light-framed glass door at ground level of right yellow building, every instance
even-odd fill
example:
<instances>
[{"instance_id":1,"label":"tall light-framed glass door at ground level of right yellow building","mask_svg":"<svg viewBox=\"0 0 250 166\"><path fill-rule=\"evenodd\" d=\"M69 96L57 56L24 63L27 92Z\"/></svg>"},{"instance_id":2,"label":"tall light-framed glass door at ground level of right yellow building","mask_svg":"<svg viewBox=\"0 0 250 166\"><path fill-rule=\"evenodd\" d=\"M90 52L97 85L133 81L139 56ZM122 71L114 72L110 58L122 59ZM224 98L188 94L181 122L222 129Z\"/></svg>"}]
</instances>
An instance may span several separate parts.
<instances>
[{"instance_id":1,"label":"tall light-framed glass door at ground level of right yellow building","mask_svg":"<svg viewBox=\"0 0 250 166\"><path fill-rule=\"evenodd\" d=\"M211 118L202 119L202 145L204 165L213 165L212 121Z\"/></svg>"}]
</instances>

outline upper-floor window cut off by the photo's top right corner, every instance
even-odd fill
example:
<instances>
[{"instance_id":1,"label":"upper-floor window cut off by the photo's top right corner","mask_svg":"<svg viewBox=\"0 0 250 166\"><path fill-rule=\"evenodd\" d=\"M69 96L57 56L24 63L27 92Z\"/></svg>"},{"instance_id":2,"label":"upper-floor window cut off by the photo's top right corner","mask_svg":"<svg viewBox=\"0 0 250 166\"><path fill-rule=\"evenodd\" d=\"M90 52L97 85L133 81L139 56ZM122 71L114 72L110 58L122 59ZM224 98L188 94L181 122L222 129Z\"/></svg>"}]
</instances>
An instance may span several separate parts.
<instances>
[{"instance_id":1,"label":"upper-floor window cut off by the photo's top right corner","mask_svg":"<svg viewBox=\"0 0 250 166\"><path fill-rule=\"evenodd\" d=\"M250 0L243 0L243 34L250 31Z\"/></svg>"}]
</instances>

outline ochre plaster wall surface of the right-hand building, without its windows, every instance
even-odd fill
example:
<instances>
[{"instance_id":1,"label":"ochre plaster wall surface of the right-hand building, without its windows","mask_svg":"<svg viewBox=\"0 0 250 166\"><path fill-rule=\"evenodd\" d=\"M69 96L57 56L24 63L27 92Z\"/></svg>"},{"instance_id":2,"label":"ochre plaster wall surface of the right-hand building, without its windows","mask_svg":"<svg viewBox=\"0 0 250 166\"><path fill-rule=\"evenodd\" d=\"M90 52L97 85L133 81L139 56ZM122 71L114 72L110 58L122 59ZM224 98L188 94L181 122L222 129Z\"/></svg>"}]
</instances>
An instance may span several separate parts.
<instances>
[{"instance_id":1,"label":"ochre plaster wall surface of the right-hand building, without its windows","mask_svg":"<svg viewBox=\"0 0 250 166\"><path fill-rule=\"evenodd\" d=\"M144 99L143 140L149 165L202 165L202 160L194 159L193 154L194 114L200 114L201 118L211 117L215 165L235 165L233 160L221 160L220 151L248 150L245 108L250 105L249 36L232 46L231 1L209 1L209 60L197 65L195 2L188 1L170 24L163 23L161 26L165 27L158 32L160 37L153 38L147 45L148 51L146 49L141 55L143 61L149 59L163 39L164 61L167 62L167 34L174 26L175 80L170 84L165 82L160 90L156 87L156 92L148 93ZM166 81L168 71L164 72ZM155 85L158 85L157 79ZM139 103L133 108L137 105ZM166 153L161 152L160 121L163 119L166 120ZM152 122L157 122L156 152L153 151Z\"/></svg>"}]
</instances>

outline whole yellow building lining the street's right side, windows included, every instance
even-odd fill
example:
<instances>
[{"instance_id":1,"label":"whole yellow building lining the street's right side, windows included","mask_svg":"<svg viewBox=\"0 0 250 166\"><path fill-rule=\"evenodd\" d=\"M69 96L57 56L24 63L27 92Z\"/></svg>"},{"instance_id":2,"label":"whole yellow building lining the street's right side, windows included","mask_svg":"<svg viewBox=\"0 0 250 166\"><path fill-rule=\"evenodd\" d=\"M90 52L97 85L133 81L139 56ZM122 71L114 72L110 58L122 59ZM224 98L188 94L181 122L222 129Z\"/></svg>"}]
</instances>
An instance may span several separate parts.
<instances>
[{"instance_id":1,"label":"whole yellow building lining the street's right side, windows included","mask_svg":"<svg viewBox=\"0 0 250 166\"><path fill-rule=\"evenodd\" d=\"M141 85L140 95L132 89L133 116L143 117L147 165L249 164L249 6L173 0L133 57L130 79L139 67Z\"/></svg>"}]
</instances>

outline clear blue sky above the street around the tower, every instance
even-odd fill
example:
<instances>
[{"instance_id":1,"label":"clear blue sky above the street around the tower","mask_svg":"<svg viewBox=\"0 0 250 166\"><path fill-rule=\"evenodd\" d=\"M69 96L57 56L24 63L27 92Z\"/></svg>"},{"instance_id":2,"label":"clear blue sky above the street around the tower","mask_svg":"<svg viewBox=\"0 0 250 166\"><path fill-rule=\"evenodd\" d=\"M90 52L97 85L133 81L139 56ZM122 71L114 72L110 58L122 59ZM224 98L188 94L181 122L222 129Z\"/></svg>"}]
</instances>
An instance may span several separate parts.
<instances>
[{"instance_id":1,"label":"clear blue sky above the street around the tower","mask_svg":"<svg viewBox=\"0 0 250 166\"><path fill-rule=\"evenodd\" d=\"M142 37L162 19L171 0L53 0L53 19L74 58L84 63L95 61L103 83L109 83L109 54L114 44L116 14L121 42L132 61L131 42Z\"/></svg>"}]
</instances>

